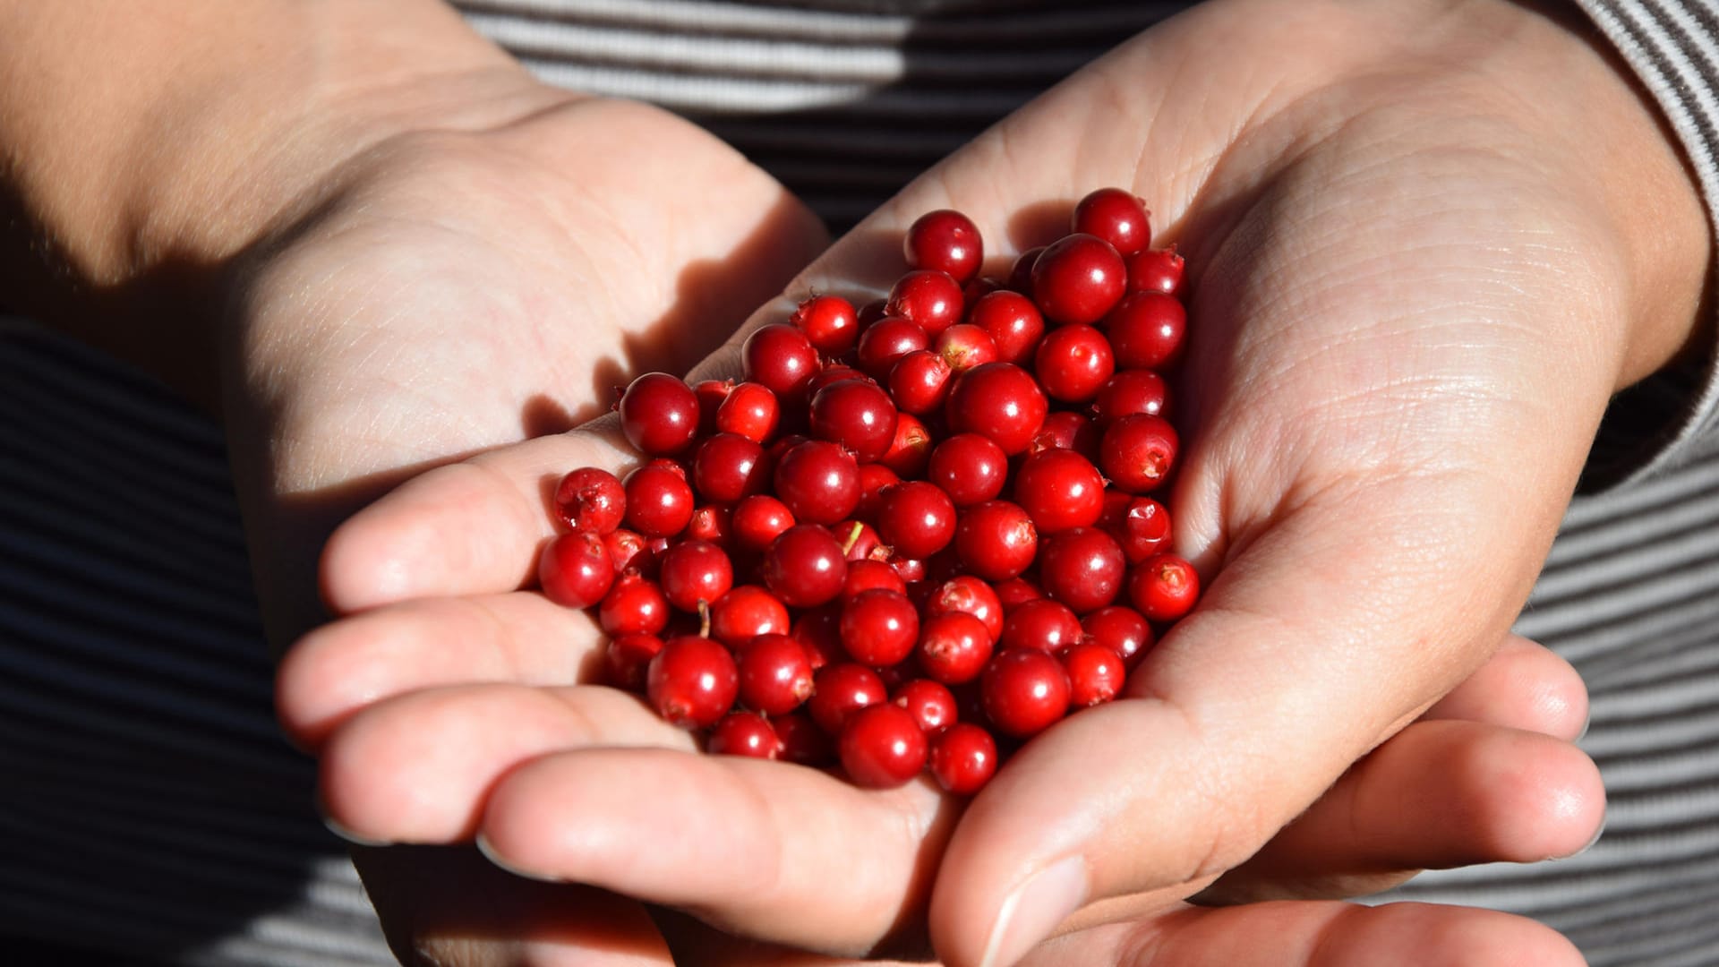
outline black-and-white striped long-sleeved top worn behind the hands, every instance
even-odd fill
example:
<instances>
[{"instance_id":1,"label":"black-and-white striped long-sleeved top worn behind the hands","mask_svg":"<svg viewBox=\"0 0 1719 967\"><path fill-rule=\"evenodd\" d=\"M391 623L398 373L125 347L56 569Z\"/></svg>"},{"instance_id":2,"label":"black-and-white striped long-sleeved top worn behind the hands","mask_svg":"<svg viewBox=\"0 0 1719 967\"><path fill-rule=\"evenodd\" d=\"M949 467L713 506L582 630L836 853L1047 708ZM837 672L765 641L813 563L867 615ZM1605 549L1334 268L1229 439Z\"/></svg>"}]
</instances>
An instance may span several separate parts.
<instances>
[{"instance_id":1,"label":"black-and-white striped long-sleeved top worn behind the hands","mask_svg":"<svg viewBox=\"0 0 1719 967\"><path fill-rule=\"evenodd\" d=\"M853 224L1179 3L464 0L538 76L688 114ZM1719 200L1719 3L1583 0ZM1681 377L1681 379L1678 379ZM1719 965L1719 380L1609 422L1520 630L1587 676L1611 793L1576 859L1401 896L1544 919L1597 965ZM1645 416L1643 416L1645 415ZM1640 427L1671 427L1642 459ZM1612 470L1612 458L1626 470ZM0 936L98 964L392 964L277 738L220 434L0 322ZM26 939L9 950L33 946Z\"/></svg>"}]
</instances>

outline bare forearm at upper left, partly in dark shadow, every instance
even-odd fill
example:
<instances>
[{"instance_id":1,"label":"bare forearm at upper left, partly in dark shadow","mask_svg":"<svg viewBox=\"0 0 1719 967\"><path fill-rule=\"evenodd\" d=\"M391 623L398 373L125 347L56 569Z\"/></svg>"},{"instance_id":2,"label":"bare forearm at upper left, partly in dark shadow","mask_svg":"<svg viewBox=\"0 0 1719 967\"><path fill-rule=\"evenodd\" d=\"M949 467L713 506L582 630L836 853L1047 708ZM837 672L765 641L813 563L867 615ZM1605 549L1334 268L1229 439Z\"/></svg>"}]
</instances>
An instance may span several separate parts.
<instances>
[{"instance_id":1,"label":"bare forearm at upper left, partly in dark shadow","mask_svg":"<svg viewBox=\"0 0 1719 967\"><path fill-rule=\"evenodd\" d=\"M364 148L529 110L437 0L0 0L0 299L213 399L210 280Z\"/></svg>"}]
</instances>

